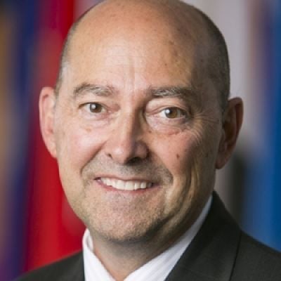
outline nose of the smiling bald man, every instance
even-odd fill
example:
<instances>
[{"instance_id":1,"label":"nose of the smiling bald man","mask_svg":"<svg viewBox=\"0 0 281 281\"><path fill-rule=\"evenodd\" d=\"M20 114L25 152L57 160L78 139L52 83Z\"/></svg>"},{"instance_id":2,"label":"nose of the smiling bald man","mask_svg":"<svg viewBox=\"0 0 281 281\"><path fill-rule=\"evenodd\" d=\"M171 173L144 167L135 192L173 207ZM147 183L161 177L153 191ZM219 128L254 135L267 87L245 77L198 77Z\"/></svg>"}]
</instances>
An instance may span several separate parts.
<instances>
[{"instance_id":1,"label":"nose of the smiling bald man","mask_svg":"<svg viewBox=\"0 0 281 281\"><path fill-rule=\"evenodd\" d=\"M129 164L148 157L148 146L143 141L143 130L138 118L132 114L120 116L104 149L107 157L118 164Z\"/></svg>"}]
</instances>

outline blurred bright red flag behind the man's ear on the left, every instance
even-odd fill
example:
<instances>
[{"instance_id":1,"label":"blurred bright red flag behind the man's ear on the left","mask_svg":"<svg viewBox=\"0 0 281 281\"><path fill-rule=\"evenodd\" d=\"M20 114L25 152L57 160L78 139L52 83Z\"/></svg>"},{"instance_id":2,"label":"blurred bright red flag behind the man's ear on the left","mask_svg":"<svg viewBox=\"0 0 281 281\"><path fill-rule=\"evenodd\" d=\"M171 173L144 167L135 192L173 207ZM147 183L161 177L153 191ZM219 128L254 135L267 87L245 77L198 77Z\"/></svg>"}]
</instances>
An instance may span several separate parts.
<instances>
[{"instance_id":1,"label":"blurred bright red flag behind the man's ear on the left","mask_svg":"<svg viewBox=\"0 0 281 281\"><path fill-rule=\"evenodd\" d=\"M34 63L34 124L30 145L30 180L25 270L50 263L81 248L84 226L70 209L58 177L55 159L39 131L37 110L42 86L54 86L63 39L74 18L74 0L41 1Z\"/></svg>"}]
</instances>

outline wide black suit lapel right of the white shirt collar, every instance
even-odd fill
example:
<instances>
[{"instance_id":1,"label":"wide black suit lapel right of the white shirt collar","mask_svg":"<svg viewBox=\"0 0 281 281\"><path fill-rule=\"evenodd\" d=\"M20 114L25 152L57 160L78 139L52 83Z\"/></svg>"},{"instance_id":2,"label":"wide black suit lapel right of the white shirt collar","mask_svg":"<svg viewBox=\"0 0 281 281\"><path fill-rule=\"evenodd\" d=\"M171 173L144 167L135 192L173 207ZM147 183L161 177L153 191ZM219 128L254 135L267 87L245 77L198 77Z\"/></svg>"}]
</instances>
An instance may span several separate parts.
<instances>
[{"instance_id":1,"label":"wide black suit lapel right of the white shirt collar","mask_svg":"<svg viewBox=\"0 0 281 281\"><path fill-rule=\"evenodd\" d=\"M166 281L230 280L240 235L240 228L214 193L202 228Z\"/></svg>"}]
</instances>

